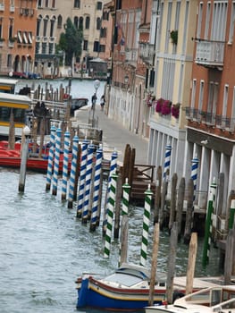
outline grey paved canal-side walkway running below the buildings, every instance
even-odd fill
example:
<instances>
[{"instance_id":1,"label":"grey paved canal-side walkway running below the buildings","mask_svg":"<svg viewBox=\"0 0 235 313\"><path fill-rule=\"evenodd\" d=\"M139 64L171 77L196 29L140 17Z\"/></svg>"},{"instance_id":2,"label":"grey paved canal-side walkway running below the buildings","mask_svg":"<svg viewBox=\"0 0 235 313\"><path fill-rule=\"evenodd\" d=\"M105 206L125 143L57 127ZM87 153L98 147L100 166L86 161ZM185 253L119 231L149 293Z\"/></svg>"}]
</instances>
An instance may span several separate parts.
<instances>
[{"instance_id":1,"label":"grey paved canal-side walkway running below the buildings","mask_svg":"<svg viewBox=\"0 0 235 313\"><path fill-rule=\"evenodd\" d=\"M89 119L93 117L93 111L90 106L86 109L80 109L77 114L79 124L87 124ZM114 148L118 152L118 163L122 165L126 145L136 149L135 164L147 165L147 148L148 140L140 138L137 134L125 129L121 123L115 122L108 118L105 110L101 111L97 105L95 119L98 121L98 128L103 130L104 150L110 149L111 153Z\"/></svg>"}]
</instances>

